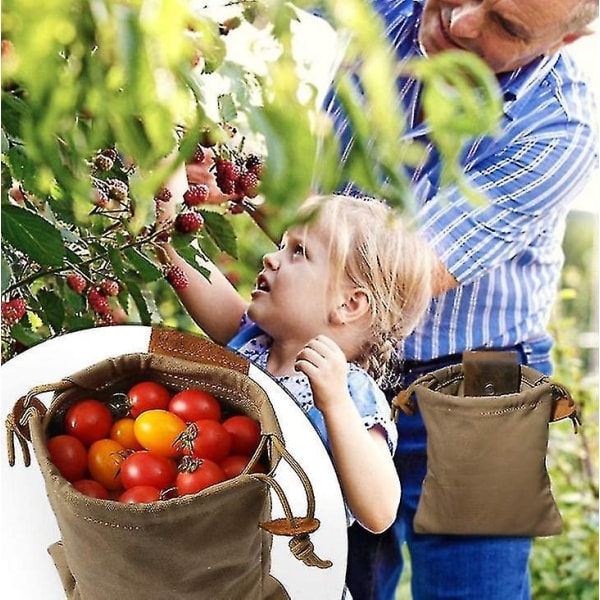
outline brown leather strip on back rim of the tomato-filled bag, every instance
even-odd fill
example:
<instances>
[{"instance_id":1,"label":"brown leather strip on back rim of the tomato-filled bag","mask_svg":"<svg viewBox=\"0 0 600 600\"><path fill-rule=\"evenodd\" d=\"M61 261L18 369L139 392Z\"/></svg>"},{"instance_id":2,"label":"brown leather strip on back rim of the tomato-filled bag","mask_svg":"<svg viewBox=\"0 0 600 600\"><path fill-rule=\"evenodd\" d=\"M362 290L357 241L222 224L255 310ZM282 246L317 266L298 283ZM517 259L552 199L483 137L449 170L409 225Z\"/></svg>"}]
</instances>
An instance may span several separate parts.
<instances>
[{"instance_id":1,"label":"brown leather strip on back rim of the tomato-filled bag","mask_svg":"<svg viewBox=\"0 0 600 600\"><path fill-rule=\"evenodd\" d=\"M227 367L245 375L250 367L245 358L207 338L165 327L152 328L148 351L201 364Z\"/></svg>"}]
</instances>

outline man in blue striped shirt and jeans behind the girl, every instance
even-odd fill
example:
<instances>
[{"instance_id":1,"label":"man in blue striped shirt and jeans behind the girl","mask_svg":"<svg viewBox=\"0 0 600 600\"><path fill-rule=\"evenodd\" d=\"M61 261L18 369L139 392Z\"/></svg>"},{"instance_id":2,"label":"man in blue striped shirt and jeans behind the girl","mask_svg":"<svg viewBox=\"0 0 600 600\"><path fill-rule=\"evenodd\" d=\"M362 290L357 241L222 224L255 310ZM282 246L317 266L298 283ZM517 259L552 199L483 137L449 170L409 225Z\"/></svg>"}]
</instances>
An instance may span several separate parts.
<instances>
[{"instance_id":1,"label":"man in blue striped shirt and jeans behind the girl","mask_svg":"<svg viewBox=\"0 0 600 600\"><path fill-rule=\"evenodd\" d=\"M462 154L472 185L489 203L474 206L457 188L440 194L440 161L420 111L421 84L398 79L406 135L426 144L410 169L420 223L439 257L438 295L419 329L399 348L399 375L415 377L461 361L464 350L517 351L550 373L546 329L562 267L571 201L597 163L595 113L585 79L563 47L590 33L597 0L373 0L398 61L461 49L497 74L504 97L500 133ZM346 151L350 131L333 92L328 110ZM530 597L531 540L419 535L412 521L426 472L419 416L398 423L396 465L402 502L395 525L372 535L350 530L348 585L354 600L393 600L411 556L415 600L522 600ZM518 507L515 507L518 510Z\"/></svg>"}]
</instances>

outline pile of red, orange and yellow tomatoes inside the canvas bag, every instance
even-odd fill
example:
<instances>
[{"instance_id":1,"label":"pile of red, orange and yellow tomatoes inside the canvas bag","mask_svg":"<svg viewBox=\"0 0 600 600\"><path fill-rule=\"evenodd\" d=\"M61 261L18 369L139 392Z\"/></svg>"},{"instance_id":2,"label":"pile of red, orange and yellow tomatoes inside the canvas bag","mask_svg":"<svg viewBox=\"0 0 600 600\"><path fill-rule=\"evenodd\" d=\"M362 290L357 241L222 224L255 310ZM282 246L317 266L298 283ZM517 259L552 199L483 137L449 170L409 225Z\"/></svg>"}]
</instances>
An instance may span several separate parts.
<instances>
[{"instance_id":1,"label":"pile of red, orange and yellow tomatoes inside the canvas bag","mask_svg":"<svg viewBox=\"0 0 600 600\"><path fill-rule=\"evenodd\" d=\"M149 380L127 392L126 416L83 399L67 410L62 430L47 443L61 475L83 494L129 503L194 494L236 477L261 435L257 421L224 415L205 390L171 392ZM250 471L264 467L255 461Z\"/></svg>"}]
</instances>

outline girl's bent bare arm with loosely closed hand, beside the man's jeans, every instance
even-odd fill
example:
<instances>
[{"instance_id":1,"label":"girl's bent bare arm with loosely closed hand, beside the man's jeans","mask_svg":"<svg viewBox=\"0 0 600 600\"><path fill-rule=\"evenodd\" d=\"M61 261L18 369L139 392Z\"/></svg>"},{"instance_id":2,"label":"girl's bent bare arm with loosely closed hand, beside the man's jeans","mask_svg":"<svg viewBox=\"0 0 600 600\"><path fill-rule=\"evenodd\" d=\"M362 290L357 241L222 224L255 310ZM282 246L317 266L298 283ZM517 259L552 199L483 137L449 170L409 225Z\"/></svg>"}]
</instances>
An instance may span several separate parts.
<instances>
[{"instance_id":1,"label":"girl's bent bare arm with loosely closed hand, beside the man's jeans","mask_svg":"<svg viewBox=\"0 0 600 600\"><path fill-rule=\"evenodd\" d=\"M352 514L366 529L380 533L395 520L400 481L384 435L365 429L348 393L348 365L331 339L318 336L298 354L315 405L323 414L342 491Z\"/></svg>"}]
</instances>

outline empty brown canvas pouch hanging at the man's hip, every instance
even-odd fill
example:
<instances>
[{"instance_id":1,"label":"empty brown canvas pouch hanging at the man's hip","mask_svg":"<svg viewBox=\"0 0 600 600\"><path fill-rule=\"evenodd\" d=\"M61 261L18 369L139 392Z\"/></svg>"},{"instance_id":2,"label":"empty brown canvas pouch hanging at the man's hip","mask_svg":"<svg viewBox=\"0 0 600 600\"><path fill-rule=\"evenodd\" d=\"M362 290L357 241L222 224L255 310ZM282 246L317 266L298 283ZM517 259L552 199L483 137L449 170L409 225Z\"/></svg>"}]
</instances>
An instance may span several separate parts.
<instances>
[{"instance_id":1,"label":"empty brown canvas pouch hanging at the man's hip","mask_svg":"<svg viewBox=\"0 0 600 600\"><path fill-rule=\"evenodd\" d=\"M412 394L416 396L415 402ZM418 407L418 408L417 408ZM549 423L578 415L568 391L509 352L469 352L393 400L419 410L427 472L417 533L551 536L562 530L546 469Z\"/></svg>"}]
</instances>

